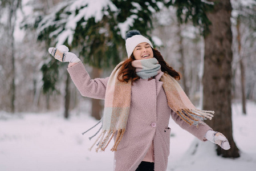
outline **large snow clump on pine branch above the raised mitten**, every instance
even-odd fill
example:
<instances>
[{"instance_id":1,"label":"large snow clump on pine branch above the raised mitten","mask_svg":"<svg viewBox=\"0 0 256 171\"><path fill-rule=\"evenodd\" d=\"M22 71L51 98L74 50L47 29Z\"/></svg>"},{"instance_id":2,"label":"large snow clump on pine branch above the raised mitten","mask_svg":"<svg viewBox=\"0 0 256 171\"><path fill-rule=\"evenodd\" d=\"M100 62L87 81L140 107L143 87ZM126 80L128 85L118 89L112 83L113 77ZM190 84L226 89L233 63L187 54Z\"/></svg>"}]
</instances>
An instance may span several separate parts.
<instances>
[{"instance_id":1,"label":"large snow clump on pine branch above the raised mitten","mask_svg":"<svg viewBox=\"0 0 256 171\"><path fill-rule=\"evenodd\" d=\"M73 41L74 31L77 23L84 19L94 18L95 22L101 21L104 14L109 9L113 12L117 11L117 7L110 0L75 0L63 2L54 7L55 13L51 13L43 18L39 23L38 33L44 32L49 27L54 27L55 30L50 33L50 38L56 36L56 46L63 44L68 40L68 44ZM62 11L63 10L63 11ZM58 13L61 14L56 19ZM78 14L76 14L78 11Z\"/></svg>"}]
</instances>

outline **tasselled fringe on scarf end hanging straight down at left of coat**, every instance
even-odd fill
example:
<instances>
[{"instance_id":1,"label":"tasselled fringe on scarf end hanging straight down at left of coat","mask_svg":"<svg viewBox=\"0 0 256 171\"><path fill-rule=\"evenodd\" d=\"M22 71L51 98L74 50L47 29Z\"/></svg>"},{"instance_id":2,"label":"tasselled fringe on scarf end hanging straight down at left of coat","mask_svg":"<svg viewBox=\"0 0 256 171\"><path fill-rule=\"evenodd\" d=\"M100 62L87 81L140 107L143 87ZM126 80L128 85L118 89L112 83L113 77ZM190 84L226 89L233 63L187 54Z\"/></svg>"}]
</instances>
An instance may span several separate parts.
<instances>
[{"instance_id":1,"label":"tasselled fringe on scarf end hanging straight down at left of coat","mask_svg":"<svg viewBox=\"0 0 256 171\"><path fill-rule=\"evenodd\" d=\"M96 141L94 142L94 144L91 146L91 148L89 148L88 150L92 150L92 148L94 147L94 145L97 143L97 148L96 148L96 152L99 151L99 149L101 151L104 151L108 144L110 143L110 141L113 139L113 136L115 135L115 133L117 131L102 131L99 135L99 137L97 137ZM117 148L117 145L119 145L121 139L123 138L124 136L124 132L125 132L125 129L120 129L118 132L117 132L117 136L116 136L116 140L115 140L115 143L113 145L113 147L111 148L111 151L116 151L116 148Z\"/></svg>"}]
</instances>

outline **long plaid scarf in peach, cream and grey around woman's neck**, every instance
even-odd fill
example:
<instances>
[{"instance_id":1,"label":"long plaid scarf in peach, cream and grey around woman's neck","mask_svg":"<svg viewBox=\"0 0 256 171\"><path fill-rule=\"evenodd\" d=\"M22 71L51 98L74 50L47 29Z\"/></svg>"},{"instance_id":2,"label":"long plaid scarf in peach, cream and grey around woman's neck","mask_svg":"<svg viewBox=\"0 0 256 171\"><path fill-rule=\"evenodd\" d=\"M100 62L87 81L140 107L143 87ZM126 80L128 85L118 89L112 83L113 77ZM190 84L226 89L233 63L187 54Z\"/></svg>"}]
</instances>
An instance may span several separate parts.
<instances>
[{"instance_id":1,"label":"long plaid scarf in peach, cream and grey around woman's neck","mask_svg":"<svg viewBox=\"0 0 256 171\"><path fill-rule=\"evenodd\" d=\"M105 92L103 125L101 125L102 131L89 150L91 150L98 142L96 152L99 149L104 151L113 136L117 134L115 143L111 149L112 151L116 151L117 145L120 143L124 135L131 105L132 82L131 80L129 80L128 83L120 82L117 79L122 64L123 62L119 63L115 67L108 79L107 89ZM132 62L132 66L136 67L136 74L139 74L140 77L144 79L151 78L161 72L160 64L158 64L156 58L135 60ZM186 96L180 84L178 84L177 80L172 76L165 73L160 78L160 81L163 82L162 87L164 88L169 107L186 123L189 125L193 124L198 127L198 124L202 123L206 118L212 119L214 111L202 111L196 109L188 96ZM101 121L102 120L100 120L99 123ZM90 131L90 129L88 131ZM99 131L97 131L97 133ZM90 137L90 139L92 137Z\"/></svg>"}]
</instances>

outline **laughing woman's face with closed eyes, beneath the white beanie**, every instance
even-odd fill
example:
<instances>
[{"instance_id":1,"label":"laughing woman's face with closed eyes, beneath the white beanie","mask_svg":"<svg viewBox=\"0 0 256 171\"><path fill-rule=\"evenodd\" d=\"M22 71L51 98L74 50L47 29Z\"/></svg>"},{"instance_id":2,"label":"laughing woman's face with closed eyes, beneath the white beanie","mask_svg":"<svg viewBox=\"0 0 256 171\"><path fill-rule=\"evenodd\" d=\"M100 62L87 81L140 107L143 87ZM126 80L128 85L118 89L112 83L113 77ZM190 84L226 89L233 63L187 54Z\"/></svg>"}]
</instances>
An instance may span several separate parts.
<instances>
[{"instance_id":1,"label":"laughing woman's face with closed eyes, beneath the white beanie","mask_svg":"<svg viewBox=\"0 0 256 171\"><path fill-rule=\"evenodd\" d=\"M135 60L153 58L153 50L148 43L140 43L133 50Z\"/></svg>"}]
</instances>

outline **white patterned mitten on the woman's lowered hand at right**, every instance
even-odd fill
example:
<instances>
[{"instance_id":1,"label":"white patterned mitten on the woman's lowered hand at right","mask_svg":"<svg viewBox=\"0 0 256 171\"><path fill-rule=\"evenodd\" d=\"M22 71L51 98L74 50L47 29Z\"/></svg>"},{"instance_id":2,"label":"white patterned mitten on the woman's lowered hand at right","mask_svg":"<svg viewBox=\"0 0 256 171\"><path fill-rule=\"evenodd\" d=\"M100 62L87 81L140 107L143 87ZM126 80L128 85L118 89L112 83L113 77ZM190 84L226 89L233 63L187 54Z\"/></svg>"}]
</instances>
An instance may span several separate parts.
<instances>
[{"instance_id":1,"label":"white patterned mitten on the woman's lowered hand at right","mask_svg":"<svg viewBox=\"0 0 256 171\"><path fill-rule=\"evenodd\" d=\"M220 145L221 148L225 150L230 149L229 141L227 141L227 138L220 132L209 130L206 132L205 138L212 143Z\"/></svg>"}]
</instances>

